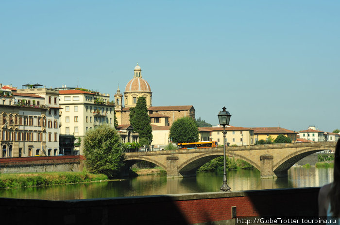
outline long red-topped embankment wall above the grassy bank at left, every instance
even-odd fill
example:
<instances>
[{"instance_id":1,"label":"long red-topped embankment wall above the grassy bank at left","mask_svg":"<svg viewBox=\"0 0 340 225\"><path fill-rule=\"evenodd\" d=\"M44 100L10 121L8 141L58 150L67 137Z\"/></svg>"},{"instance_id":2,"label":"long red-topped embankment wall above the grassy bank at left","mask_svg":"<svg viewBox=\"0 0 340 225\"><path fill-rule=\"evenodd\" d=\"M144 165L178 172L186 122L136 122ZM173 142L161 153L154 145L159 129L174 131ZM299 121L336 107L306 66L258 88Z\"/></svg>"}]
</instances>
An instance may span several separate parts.
<instances>
[{"instance_id":1,"label":"long red-topped embankment wall above the grassy bank at left","mask_svg":"<svg viewBox=\"0 0 340 225\"><path fill-rule=\"evenodd\" d=\"M84 160L82 155L0 158L0 173L80 172Z\"/></svg>"}]
</instances>

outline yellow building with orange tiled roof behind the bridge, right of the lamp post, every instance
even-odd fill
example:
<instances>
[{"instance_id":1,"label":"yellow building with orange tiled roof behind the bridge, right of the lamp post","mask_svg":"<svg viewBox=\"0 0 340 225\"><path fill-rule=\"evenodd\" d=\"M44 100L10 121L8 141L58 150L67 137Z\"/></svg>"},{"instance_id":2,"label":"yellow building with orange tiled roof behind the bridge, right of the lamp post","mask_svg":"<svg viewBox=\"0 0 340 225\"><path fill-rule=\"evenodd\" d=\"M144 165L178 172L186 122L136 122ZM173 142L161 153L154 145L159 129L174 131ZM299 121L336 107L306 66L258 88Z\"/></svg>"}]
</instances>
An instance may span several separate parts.
<instances>
[{"instance_id":1,"label":"yellow building with orange tiled roof behind the bridge, right of the lamp post","mask_svg":"<svg viewBox=\"0 0 340 225\"><path fill-rule=\"evenodd\" d=\"M296 142L296 132L287 130L282 127L254 127L255 142L258 140L267 140L269 136L275 139L278 135L289 137L292 143Z\"/></svg>"}]
</instances>

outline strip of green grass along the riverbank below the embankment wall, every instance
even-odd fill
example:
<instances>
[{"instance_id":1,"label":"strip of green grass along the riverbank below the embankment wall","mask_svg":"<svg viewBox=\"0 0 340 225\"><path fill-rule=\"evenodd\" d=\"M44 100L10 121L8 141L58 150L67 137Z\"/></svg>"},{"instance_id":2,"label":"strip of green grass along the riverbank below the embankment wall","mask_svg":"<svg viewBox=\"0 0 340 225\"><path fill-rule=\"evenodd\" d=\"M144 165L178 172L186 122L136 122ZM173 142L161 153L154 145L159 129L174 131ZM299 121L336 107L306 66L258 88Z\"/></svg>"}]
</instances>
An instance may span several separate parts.
<instances>
[{"instance_id":1,"label":"strip of green grass along the riverbank below the embankment wall","mask_svg":"<svg viewBox=\"0 0 340 225\"><path fill-rule=\"evenodd\" d=\"M87 171L1 174L0 189L80 183L107 179L106 175L91 174Z\"/></svg>"}]
</instances>

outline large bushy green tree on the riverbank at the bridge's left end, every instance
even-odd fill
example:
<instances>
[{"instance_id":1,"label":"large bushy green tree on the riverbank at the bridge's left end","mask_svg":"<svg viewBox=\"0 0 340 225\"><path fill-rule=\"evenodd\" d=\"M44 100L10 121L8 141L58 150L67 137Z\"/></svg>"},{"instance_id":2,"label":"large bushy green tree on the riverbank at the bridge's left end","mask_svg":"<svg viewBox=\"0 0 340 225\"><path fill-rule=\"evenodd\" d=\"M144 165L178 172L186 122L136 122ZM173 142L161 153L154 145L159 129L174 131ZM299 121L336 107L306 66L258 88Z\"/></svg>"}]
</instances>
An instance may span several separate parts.
<instances>
[{"instance_id":1,"label":"large bushy green tree on the riverbank at the bridge's left end","mask_svg":"<svg viewBox=\"0 0 340 225\"><path fill-rule=\"evenodd\" d=\"M88 130L84 137L86 167L93 173L105 174L112 178L124 165L124 152L118 132L104 123Z\"/></svg>"}]
</instances>

